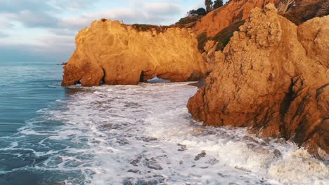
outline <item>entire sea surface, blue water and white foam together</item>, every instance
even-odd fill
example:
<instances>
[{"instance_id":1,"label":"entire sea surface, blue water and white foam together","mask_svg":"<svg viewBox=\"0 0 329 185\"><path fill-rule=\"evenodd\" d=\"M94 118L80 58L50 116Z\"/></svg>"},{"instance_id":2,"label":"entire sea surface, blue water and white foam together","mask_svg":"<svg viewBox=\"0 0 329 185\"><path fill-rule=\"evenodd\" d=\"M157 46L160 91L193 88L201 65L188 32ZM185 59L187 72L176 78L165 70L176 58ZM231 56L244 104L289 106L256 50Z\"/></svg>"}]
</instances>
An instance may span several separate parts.
<instances>
[{"instance_id":1,"label":"entire sea surface, blue water and white foam together","mask_svg":"<svg viewBox=\"0 0 329 185\"><path fill-rule=\"evenodd\" d=\"M0 69L0 184L329 184L295 144L193 121L188 83L61 88L61 73Z\"/></svg>"}]
</instances>

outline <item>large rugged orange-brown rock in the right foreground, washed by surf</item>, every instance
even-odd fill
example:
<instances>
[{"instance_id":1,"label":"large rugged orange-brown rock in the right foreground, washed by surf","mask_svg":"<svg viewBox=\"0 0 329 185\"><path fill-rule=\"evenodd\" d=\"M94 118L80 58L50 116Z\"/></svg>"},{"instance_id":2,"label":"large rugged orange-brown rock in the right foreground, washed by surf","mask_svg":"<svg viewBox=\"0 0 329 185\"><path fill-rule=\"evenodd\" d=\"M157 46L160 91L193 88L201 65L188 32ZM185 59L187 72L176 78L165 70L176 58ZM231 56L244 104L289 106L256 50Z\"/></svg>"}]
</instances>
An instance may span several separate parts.
<instances>
[{"instance_id":1,"label":"large rugged orange-brown rock in the right foreground, washed by surf","mask_svg":"<svg viewBox=\"0 0 329 185\"><path fill-rule=\"evenodd\" d=\"M255 8L188 102L205 125L250 127L329 153L329 16L297 27L273 4Z\"/></svg>"}]
</instances>

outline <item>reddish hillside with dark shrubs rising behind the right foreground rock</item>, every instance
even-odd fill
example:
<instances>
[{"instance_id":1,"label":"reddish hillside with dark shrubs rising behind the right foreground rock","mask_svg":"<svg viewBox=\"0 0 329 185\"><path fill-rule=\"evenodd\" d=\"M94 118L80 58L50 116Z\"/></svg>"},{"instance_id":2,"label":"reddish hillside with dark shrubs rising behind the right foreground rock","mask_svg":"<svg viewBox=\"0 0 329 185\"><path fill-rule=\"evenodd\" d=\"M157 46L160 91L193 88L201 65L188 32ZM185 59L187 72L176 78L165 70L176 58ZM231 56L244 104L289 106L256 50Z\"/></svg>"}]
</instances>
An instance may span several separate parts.
<instances>
[{"instance_id":1,"label":"reddish hillside with dark shrubs rising behind the right foreground rock","mask_svg":"<svg viewBox=\"0 0 329 185\"><path fill-rule=\"evenodd\" d=\"M223 50L233 36L233 32L238 31L238 27L243 25L252 8L264 8L270 2L276 3L281 10L283 7L288 8L287 12L280 12L280 14L296 25L311 18L329 15L328 0L295 0L290 6L288 6L288 0L231 0L225 6L217 8L185 27L192 27L198 34L200 51L203 51L205 43L209 40L217 42L216 50Z\"/></svg>"}]
</instances>

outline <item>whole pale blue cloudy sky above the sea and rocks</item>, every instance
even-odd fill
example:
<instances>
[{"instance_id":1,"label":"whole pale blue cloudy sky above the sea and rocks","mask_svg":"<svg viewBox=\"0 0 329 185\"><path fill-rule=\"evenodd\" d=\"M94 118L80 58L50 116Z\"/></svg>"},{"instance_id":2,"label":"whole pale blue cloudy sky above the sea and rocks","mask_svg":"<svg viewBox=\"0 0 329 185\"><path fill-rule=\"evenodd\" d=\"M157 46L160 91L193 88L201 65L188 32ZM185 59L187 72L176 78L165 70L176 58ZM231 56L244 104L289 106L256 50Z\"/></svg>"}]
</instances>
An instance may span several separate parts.
<instances>
[{"instance_id":1,"label":"whole pale blue cloudy sky above the sea and rocks","mask_svg":"<svg viewBox=\"0 0 329 185\"><path fill-rule=\"evenodd\" d=\"M0 62L66 62L93 20L170 25L203 0L0 0Z\"/></svg>"}]
</instances>

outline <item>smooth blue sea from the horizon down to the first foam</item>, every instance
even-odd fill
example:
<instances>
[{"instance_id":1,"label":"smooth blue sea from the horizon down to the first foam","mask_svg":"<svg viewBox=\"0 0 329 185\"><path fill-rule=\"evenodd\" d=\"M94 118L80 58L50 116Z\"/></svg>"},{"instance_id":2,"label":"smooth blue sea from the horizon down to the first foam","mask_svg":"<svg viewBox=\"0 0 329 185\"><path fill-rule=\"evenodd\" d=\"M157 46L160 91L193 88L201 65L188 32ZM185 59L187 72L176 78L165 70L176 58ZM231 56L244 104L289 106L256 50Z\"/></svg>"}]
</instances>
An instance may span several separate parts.
<instances>
[{"instance_id":1,"label":"smooth blue sea from the horizon down to the first foam","mask_svg":"<svg viewBox=\"0 0 329 185\"><path fill-rule=\"evenodd\" d=\"M1 62L0 136L13 135L49 102L65 96L63 66L40 62Z\"/></svg>"}]
</instances>

